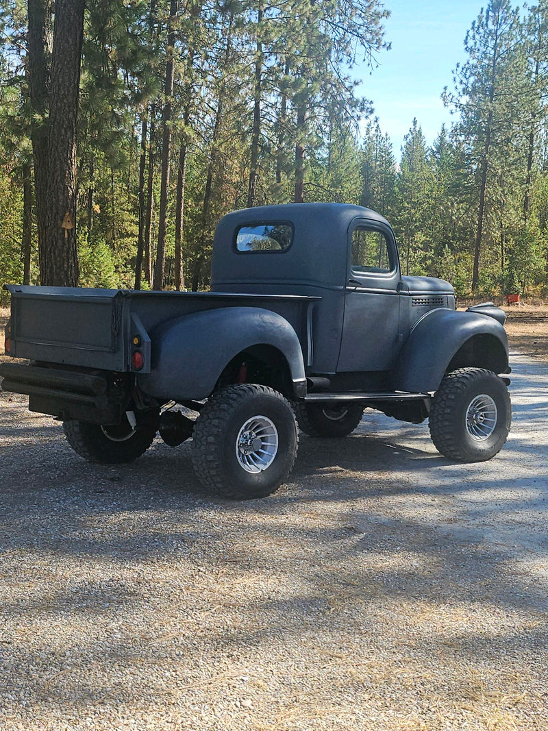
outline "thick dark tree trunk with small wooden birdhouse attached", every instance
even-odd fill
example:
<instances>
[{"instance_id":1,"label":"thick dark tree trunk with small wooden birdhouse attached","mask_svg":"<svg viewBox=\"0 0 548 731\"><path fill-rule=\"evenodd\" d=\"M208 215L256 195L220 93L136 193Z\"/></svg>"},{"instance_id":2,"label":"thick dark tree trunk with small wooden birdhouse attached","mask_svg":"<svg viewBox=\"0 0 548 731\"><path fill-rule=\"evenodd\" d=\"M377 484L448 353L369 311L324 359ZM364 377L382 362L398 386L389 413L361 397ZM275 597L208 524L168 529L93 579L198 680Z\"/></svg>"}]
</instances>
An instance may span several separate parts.
<instances>
[{"instance_id":1,"label":"thick dark tree trunk with small wooden birdhouse attached","mask_svg":"<svg viewBox=\"0 0 548 731\"><path fill-rule=\"evenodd\" d=\"M42 284L76 287L76 142L85 0L56 0L48 131L46 238ZM72 228L63 228L69 218Z\"/></svg>"}]
</instances>

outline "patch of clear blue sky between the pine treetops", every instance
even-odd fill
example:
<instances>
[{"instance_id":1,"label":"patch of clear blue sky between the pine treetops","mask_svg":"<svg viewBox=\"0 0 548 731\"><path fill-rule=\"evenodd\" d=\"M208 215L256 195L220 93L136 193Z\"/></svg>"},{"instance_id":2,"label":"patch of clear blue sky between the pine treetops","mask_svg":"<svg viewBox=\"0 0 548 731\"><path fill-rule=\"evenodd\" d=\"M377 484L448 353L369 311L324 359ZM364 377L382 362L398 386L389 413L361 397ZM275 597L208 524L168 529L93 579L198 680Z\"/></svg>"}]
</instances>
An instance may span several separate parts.
<instances>
[{"instance_id":1,"label":"patch of clear blue sky between the pine treetops","mask_svg":"<svg viewBox=\"0 0 548 731\"><path fill-rule=\"evenodd\" d=\"M391 11L385 38L392 50L378 53L379 67L369 75L360 68L360 96L373 101L374 116L394 143L400 159L403 136L416 117L428 144L432 144L451 115L440 95L452 88L452 70L464 61L466 31L486 2L482 0L384 0Z\"/></svg>"}]
</instances>

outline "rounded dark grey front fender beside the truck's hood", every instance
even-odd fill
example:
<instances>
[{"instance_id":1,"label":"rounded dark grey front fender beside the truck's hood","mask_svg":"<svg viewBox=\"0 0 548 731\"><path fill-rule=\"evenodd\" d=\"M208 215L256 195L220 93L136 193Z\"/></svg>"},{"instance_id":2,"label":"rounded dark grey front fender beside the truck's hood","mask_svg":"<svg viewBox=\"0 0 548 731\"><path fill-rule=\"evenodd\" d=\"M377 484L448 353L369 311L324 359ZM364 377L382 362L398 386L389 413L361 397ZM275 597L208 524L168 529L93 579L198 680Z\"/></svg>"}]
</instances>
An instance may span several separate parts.
<instances>
[{"instance_id":1,"label":"rounded dark grey front fender beside the truck's hood","mask_svg":"<svg viewBox=\"0 0 548 731\"><path fill-rule=\"evenodd\" d=\"M504 373L508 368L508 337L503 325L477 312L440 308L425 315L403 345L392 371L394 390L425 393L436 391L455 355L471 338L482 336L471 362L473 366Z\"/></svg>"}]
</instances>

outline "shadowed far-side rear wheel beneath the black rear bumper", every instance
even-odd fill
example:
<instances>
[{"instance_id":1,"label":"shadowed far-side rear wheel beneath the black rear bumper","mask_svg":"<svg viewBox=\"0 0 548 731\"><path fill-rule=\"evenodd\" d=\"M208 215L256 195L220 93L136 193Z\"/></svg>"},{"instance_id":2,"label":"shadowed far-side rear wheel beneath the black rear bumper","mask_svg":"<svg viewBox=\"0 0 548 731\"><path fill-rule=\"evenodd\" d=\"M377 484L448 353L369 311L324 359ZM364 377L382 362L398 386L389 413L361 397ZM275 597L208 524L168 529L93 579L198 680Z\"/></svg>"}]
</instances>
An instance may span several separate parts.
<instances>
[{"instance_id":1,"label":"shadowed far-side rear wheel beneath the black rear bumper","mask_svg":"<svg viewBox=\"0 0 548 731\"><path fill-rule=\"evenodd\" d=\"M148 450L156 436L156 428L148 424L134 427L126 414L115 426L65 421L63 431L66 441L80 457L99 464L132 462Z\"/></svg>"}]
</instances>

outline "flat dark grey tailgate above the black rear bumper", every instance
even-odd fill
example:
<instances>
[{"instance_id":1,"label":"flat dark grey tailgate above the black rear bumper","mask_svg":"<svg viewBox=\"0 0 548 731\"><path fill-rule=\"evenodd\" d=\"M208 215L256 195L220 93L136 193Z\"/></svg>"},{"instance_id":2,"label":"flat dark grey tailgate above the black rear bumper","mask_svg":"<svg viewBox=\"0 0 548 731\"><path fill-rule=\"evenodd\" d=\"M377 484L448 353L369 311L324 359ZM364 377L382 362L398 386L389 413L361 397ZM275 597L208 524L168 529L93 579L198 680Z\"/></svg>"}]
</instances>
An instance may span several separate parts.
<instances>
[{"instance_id":1,"label":"flat dark grey tailgate above the black rear bumper","mask_svg":"<svg viewBox=\"0 0 548 731\"><path fill-rule=\"evenodd\" d=\"M47 363L126 370L118 289L20 287L12 295L11 355Z\"/></svg>"}]
</instances>

